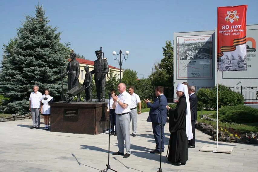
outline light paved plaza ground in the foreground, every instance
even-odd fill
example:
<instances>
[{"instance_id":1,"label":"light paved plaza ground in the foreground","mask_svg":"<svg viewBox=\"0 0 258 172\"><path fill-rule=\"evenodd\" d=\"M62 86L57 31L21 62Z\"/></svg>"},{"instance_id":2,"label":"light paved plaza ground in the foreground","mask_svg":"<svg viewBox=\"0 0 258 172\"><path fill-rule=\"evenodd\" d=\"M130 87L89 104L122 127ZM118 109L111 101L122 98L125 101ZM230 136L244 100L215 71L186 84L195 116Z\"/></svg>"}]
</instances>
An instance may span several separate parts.
<instances>
[{"instance_id":1,"label":"light paved plaza ground in the foreground","mask_svg":"<svg viewBox=\"0 0 258 172\"><path fill-rule=\"evenodd\" d=\"M149 112L138 115L137 136L131 138L131 156L112 155L118 151L116 136L110 136L110 166L119 172L155 172L159 168L159 154L155 148L152 124L146 122ZM8 172L98 172L108 163L108 135L83 135L44 131L41 119L39 130L29 129L32 120L0 123L0 171ZM131 130L132 131L132 130ZM195 130L196 146L189 149L185 166L173 166L165 156L169 131L165 125L165 153L163 172L257 172L258 147L252 144L233 145L231 154L201 152L202 146L216 146L211 136ZM112 170L107 170L112 171Z\"/></svg>"}]
</instances>

